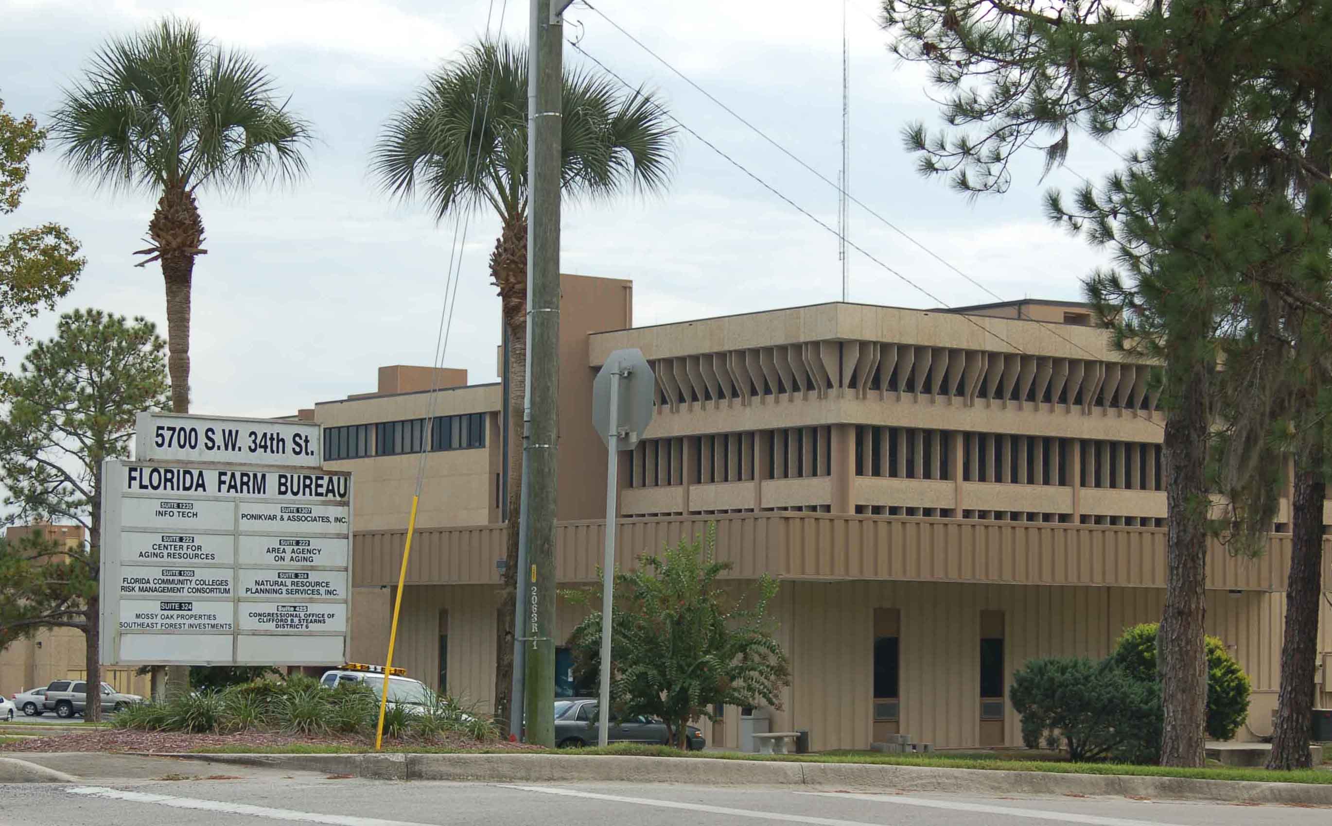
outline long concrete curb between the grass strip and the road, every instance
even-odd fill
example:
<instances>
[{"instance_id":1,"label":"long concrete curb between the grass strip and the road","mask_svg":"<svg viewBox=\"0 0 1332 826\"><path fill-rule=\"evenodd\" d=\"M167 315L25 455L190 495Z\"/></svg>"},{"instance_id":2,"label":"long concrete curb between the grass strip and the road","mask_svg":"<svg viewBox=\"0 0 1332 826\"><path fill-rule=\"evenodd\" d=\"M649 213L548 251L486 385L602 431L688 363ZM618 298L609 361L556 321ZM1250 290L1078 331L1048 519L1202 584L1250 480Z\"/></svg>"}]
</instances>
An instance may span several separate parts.
<instances>
[{"instance_id":1,"label":"long concrete curb between the grass strip and the road","mask_svg":"<svg viewBox=\"0 0 1332 826\"><path fill-rule=\"evenodd\" d=\"M811 786L860 791L1086 794L1225 803L1332 806L1332 785L1200 781L1119 774L988 771L874 763L814 763L577 754L160 754L212 763L324 771L390 781L489 783L662 782Z\"/></svg>"}]
</instances>

